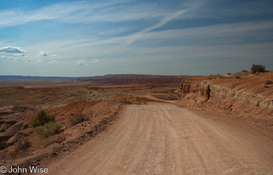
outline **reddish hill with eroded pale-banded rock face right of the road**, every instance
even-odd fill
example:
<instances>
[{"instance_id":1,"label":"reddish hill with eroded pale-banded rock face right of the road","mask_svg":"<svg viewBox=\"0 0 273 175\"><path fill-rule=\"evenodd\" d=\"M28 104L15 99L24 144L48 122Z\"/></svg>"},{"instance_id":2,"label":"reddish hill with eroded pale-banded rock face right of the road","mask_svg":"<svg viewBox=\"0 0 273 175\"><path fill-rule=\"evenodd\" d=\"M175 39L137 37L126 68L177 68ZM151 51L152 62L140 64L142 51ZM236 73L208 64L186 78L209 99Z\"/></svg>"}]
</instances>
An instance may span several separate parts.
<instances>
[{"instance_id":1,"label":"reddish hill with eroded pale-banded rock face right of the road","mask_svg":"<svg viewBox=\"0 0 273 175\"><path fill-rule=\"evenodd\" d=\"M178 105L225 113L273 131L273 71L185 79Z\"/></svg>"}]
</instances>

